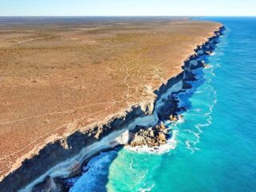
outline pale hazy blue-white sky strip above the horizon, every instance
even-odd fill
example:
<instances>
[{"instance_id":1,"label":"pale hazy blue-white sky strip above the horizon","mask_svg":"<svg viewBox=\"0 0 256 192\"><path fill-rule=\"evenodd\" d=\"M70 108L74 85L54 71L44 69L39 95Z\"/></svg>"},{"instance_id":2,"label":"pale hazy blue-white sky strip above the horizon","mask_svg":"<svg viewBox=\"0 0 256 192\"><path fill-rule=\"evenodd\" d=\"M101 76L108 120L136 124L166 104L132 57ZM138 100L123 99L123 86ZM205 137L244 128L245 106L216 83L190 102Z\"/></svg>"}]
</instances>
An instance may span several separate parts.
<instances>
[{"instance_id":1,"label":"pale hazy blue-white sky strip above the horizon","mask_svg":"<svg viewBox=\"0 0 256 192\"><path fill-rule=\"evenodd\" d=\"M1 0L0 16L256 15L256 0Z\"/></svg>"}]
</instances>

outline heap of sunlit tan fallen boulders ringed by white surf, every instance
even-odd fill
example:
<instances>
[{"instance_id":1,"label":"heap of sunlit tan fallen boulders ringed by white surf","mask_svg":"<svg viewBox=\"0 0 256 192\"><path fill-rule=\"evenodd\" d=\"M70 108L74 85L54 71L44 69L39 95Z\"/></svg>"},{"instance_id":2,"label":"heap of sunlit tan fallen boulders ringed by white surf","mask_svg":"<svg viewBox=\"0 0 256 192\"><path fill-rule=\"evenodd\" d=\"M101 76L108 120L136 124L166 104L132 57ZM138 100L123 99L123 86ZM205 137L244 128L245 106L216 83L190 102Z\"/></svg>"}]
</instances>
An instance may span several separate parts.
<instances>
[{"instance_id":1,"label":"heap of sunlit tan fallen boulders ringed by white surf","mask_svg":"<svg viewBox=\"0 0 256 192\"><path fill-rule=\"evenodd\" d=\"M130 146L160 146L166 144L168 130L163 123L153 127L137 126L135 130L130 131Z\"/></svg>"}]
</instances>

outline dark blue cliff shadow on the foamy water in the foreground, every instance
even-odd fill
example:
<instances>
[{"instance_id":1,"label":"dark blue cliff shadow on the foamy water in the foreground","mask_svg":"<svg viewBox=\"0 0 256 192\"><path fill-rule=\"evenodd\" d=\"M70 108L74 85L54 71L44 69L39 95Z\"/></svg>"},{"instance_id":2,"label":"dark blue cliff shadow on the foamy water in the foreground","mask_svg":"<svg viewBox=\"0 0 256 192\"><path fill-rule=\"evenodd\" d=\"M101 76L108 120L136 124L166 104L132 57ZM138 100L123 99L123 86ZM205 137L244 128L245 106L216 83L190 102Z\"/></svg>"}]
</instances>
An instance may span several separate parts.
<instances>
[{"instance_id":1,"label":"dark blue cliff shadow on the foamy water in the foreground","mask_svg":"<svg viewBox=\"0 0 256 192\"><path fill-rule=\"evenodd\" d=\"M82 168L82 175L66 179L66 191L70 192L104 192L109 182L110 165L118 157L118 152L122 146L117 146L113 150L101 152L87 162Z\"/></svg>"}]
</instances>

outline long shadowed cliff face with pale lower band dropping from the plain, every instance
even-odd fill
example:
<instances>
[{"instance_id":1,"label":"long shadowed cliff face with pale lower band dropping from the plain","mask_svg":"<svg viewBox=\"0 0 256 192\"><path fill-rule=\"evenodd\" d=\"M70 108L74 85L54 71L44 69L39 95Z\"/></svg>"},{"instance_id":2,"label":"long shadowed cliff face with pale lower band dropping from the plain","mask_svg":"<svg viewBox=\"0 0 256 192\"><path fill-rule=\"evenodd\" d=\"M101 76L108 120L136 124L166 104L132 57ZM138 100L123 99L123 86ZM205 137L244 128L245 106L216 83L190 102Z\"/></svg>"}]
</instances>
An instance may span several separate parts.
<instances>
[{"instance_id":1,"label":"long shadowed cliff face with pale lower band dropping from the plain","mask_svg":"<svg viewBox=\"0 0 256 192\"><path fill-rule=\"evenodd\" d=\"M115 116L102 126L75 132L65 139L48 144L34 158L26 159L22 166L6 176L0 182L0 191L30 191L46 178L68 178L79 174L82 164L101 150L126 145L130 138L129 130L135 126L154 126L170 114L176 115L177 107L169 96L189 87L186 81L195 79L191 70L204 66L200 56L210 54L215 49L223 30L224 27L220 27L213 37L198 46L195 53L184 62L182 73L170 78L155 91L157 98L154 105L131 106L122 116Z\"/></svg>"}]
</instances>

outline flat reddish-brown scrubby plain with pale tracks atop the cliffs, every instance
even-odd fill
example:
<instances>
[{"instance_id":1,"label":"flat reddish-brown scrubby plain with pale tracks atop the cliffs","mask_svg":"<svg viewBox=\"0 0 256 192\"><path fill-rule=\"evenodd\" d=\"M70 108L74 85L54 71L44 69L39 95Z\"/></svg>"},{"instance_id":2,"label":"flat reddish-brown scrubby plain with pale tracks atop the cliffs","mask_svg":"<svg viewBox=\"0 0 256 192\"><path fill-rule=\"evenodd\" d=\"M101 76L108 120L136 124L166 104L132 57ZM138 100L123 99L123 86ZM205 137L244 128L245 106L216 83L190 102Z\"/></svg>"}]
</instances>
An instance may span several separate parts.
<instances>
[{"instance_id":1,"label":"flat reddish-brown scrubby plain with pale tracks atop the cliffs","mask_svg":"<svg viewBox=\"0 0 256 192\"><path fill-rule=\"evenodd\" d=\"M185 18L0 18L0 176L47 142L151 101L219 26Z\"/></svg>"}]
</instances>

